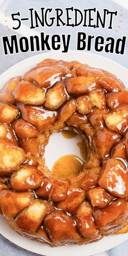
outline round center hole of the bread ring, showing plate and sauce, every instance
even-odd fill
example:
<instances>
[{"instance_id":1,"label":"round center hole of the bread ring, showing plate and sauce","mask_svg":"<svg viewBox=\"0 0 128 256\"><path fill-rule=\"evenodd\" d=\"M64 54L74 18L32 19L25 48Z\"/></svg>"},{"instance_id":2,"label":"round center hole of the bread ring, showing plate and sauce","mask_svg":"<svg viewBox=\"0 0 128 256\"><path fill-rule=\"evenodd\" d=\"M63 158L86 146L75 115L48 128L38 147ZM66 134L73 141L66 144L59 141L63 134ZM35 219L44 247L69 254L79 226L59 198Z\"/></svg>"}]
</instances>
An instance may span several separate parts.
<instances>
[{"instance_id":1,"label":"round center hole of the bread ring, showing plate and sauce","mask_svg":"<svg viewBox=\"0 0 128 256\"><path fill-rule=\"evenodd\" d=\"M54 132L46 146L44 157L47 167L52 174L58 178L65 178L80 172L84 163L81 154L80 135L73 136L73 133Z\"/></svg>"}]
</instances>

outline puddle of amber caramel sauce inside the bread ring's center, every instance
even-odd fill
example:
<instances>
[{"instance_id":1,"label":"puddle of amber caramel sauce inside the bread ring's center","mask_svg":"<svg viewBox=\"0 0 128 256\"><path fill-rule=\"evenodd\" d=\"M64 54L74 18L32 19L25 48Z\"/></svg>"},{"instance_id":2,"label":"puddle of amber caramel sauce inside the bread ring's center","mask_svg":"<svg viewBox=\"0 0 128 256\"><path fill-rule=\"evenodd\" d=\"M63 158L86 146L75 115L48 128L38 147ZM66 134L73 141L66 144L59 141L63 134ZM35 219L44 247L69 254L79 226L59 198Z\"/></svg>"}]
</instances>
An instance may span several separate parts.
<instances>
[{"instance_id":1,"label":"puddle of amber caramel sauce inside the bread ring's center","mask_svg":"<svg viewBox=\"0 0 128 256\"><path fill-rule=\"evenodd\" d=\"M58 178L66 178L76 175L83 166L82 160L75 155L65 155L60 157L53 165L52 174Z\"/></svg>"}]
</instances>

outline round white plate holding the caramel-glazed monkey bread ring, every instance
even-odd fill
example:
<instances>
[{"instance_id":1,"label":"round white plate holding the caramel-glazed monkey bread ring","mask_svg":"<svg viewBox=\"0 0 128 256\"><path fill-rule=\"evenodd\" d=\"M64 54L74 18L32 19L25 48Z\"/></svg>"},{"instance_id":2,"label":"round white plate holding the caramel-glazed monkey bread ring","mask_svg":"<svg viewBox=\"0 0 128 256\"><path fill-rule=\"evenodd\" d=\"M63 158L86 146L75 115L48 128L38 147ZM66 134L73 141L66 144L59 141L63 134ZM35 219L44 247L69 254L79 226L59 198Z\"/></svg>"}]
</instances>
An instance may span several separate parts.
<instances>
[{"instance_id":1,"label":"round white plate holding the caramel-glazed monkey bread ring","mask_svg":"<svg viewBox=\"0 0 128 256\"><path fill-rule=\"evenodd\" d=\"M95 54L71 51L66 54L59 52L43 53L17 63L15 66L12 66L0 76L1 88L4 86L5 82L7 82L12 76L24 74L24 72L36 65L37 62L40 62L46 58L63 59L67 61L78 60L83 63L87 63L88 65L93 67L106 69L107 71L110 71L113 74L117 75L118 78L121 79L125 85L128 84L127 69L120 66L118 63ZM53 138L53 141L54 139L55 138ZM73 152L73 154L74 153L75 151ZM126 233L120 235L111 235L89 245L68 245L52 248L46 244L35 242L30 239L24 238L21 235L18 235L8 226L8 224L2 218L0 232L5 238L10 240L17 246L27 249L28 251L47 256L89 256L92 254L106 251L107 249L117 246L121 242L124 242L126 239L128 239L128 233Z\"/></svg>"}]
</instances>

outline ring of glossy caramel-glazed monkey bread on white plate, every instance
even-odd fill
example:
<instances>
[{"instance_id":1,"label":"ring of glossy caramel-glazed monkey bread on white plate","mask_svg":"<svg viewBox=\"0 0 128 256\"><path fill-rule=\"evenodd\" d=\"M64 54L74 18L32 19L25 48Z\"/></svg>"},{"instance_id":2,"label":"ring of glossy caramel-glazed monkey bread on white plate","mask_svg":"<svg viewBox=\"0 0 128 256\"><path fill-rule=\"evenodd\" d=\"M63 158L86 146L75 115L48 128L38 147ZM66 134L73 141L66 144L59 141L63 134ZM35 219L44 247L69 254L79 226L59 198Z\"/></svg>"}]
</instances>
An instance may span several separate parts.
<instances>
[{"instance_id":1,"label":"ring of glossy caramel-glazed monkey bread on white plate","mask_svg":"<svg viewBox=\"0 0 128 256\"><path fill-rule=\"evenodd\" d=\"M0 213L9 225L52 246L121 233L128 222L123 83L78 61L47 59L10 79L0 102ZM85 164L66 155L50 172L45 146L54 131L73 138L69 127L83 135L77 145Z\"/></svg>"}]
</instances>

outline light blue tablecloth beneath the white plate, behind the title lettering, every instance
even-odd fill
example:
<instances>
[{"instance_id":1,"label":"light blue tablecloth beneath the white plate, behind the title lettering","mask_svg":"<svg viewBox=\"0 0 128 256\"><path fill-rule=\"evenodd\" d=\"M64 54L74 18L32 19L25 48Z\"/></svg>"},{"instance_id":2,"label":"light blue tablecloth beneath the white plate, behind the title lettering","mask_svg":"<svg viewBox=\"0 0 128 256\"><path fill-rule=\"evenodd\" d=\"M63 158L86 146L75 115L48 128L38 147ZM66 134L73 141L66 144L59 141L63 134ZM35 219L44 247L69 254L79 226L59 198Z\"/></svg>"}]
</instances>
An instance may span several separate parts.
<instances>
[{"instance_id":1,"label":"light blue tablecloth beneath the white plate, behind the title lettering","mask_svg":"<svg viewBox=\"0 0 128 256\"><path fill-rule=\"evenodd\" d=\"M126 0L127 1L127 0ZM121 1L120 1L121 2ZM75 50L75 38L76 38L76 33L77 31L85 31L87 34L94 34L94 35L103 35L103 36L113 36L115 38L121 37L121 36L126 36L127 31L128 31L128 22L127 22L127 17L128 17L128 10L122 8L120 5L112 2L111 0L8 0L4 1L4 3L1 6L2 12L4 12L6 15L9 15L12 12L17 12L21 11L22 17L27 17L27 10L30 7L36 8L37 11L39 11L40 7L46 7L46 8L66 8L66 7L73 7L78 8L78 9L87 9L87 8L94 8L97 7L98 10L103 10L103 9L110 9L110 10L118 10L120 12L121 9L121 20L123 22L119 23L120 18L117 18L113 25L114 29L113 30L107 30L107 29L93 29L93 28L86 28L84 29L83 27L79 28L69 28L69 27L52 27L52 28L39 28L38 31L44 31L47 34L55 34L57 30L57 34L72 34L72 44L70 46L70 49ZM121 15L120 14L120 15ZM27 22L24 22L25 25L27 25ZM120 25L121 24L121 25ZM118 28L117 26L121 26L121 28ZM1 28L1 35L12 35L16 34L17 31L14 30L8 30L8 28L4 27L4 25L0 24ZM118 32L116 32L118 30ZM17 36L20 37L17 33ZM14 65L15 63L26 59L29 56L33 56L38 53L20 53L20 54L14 54L14 55L8 55L4 56L3 50L2 50L2 40L0 38L0 49L1 49L1 62L0 62L0 74L3 73L5 70L7 70L9 67ZM92 53L95 53L94 50L92 50ZM125 49L125 55L116 55L116 54L107 54L107 53L97 53L100 54L101 56L105 56L108 59L114 60L124 67L128 67L128 61L127 61L127 56L128 56L128 44L126 44L126 49ZM2 235L0 235L0 256L36 256L37 254L31 253L28 251L25 251L24 249L21 249L20 247L15 246L11 242L9 242L7 239L3 238ZM125 241L123 244L107 251L108 256L127 256L128 255L128 244L127 241ZM39 255L39 254L38 254Z\"/></svg>"}]
</instances>

